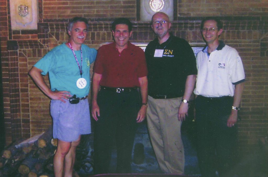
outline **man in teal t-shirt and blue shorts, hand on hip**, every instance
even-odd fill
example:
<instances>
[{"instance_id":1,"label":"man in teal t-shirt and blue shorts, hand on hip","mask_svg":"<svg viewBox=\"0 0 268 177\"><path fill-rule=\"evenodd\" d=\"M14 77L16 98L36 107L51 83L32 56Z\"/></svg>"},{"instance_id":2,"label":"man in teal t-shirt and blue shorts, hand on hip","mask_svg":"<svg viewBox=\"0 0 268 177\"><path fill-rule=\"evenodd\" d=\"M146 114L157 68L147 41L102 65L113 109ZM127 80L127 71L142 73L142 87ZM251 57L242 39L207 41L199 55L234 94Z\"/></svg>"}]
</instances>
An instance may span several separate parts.
<instances>
[{"instance_id":1,"label":"man in teal t-shirt and blue shorts, hand on hip","mask_svg":"<svg viewBox=\"0 0 268 177\"><path fill-rule=\"evenodd\" d=\"M53 162L56 177L72 176L75 150L81 134L91 133L87 96L90 63L95 61L97 53L83 44L87 37L87 19L73 18L67 30L68 42L53 48L29 71L36 85L51 98L53 138L58 138ZM42 76L47 73L50 88Z\"/></svg>"}]
</instances>

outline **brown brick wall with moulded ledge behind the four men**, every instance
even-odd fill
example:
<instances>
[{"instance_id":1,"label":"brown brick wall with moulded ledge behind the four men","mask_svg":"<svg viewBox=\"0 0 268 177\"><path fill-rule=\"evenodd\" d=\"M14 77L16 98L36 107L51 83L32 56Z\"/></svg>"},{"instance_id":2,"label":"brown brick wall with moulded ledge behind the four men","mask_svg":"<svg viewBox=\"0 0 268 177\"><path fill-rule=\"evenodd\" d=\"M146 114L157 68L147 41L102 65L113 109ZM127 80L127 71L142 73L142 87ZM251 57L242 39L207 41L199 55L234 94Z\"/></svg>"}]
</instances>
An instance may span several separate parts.
<instances>
[{"instance_id":1,"label":"brown brick wall with moulded ledge behind the four men","mask_svg":"<svg viewBox=\"0 0 268 177\"><path fill-rule=\"evenodd\" d=\"M238 123L239 146L245 152L267 134L267 7L266 0L250 3L238 0L174 1L174 14L177 14L172 25L174 35L192 45L202 46L200 21L204 16L216 15L224 22L221 39L239 51L246 73ZM39 134L51 125L50 100L32 82L28 70L47 51L68 40L65 27L69 18L88 18L90 29L85 43L96 49L103 43L112 42L110 22L115 17L132 20L131 42L147 44L154 39L150 24L139 22L139 0L38 0L38 9L38 30L12 31L9 0L0 0L6 144L19 137ZM45 81L49 83L47 76Z\"/></svg>"}]
</instances>

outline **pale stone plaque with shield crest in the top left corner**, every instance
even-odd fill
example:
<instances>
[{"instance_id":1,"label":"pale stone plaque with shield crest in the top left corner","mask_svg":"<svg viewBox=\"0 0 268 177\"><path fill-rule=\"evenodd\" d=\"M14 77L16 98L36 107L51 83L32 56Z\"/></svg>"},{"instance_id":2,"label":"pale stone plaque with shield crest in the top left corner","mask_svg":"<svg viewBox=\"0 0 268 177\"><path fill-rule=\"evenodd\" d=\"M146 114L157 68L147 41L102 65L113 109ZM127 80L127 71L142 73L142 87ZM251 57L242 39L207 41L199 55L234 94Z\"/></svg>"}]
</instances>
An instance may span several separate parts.
<instances>
[{"instance_id":1,"label":"pale stone plaque with shield crest in the top left corner","mask_svg":"<svg viewBox=\"0 0 268 177\"><path fill-rule=\"evenodd\" d=\"M37 29L37 0L10 0L12 30Z\"/></svg>"}]
</instances>

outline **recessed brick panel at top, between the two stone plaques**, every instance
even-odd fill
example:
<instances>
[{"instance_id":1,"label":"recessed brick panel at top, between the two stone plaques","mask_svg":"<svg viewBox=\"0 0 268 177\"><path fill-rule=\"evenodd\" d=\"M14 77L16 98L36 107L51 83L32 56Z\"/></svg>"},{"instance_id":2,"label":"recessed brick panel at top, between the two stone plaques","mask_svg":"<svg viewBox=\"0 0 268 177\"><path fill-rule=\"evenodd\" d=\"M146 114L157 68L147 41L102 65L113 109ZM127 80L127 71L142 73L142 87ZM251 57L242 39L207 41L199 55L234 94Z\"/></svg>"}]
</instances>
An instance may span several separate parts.
<instances>
[{"instance_id":1,"label":"recessed brick panel at top, between the two stone plaques","mask_svg":"<svg viewBox=\"0 0 268 177\"><path fill-rule=\"evenodd\" d=\"M73 16L85 18L108 19L114 17L127 17L135 20L135 0L43 0L43 21L72 18Z\"/></svg>"}]
</instances>

